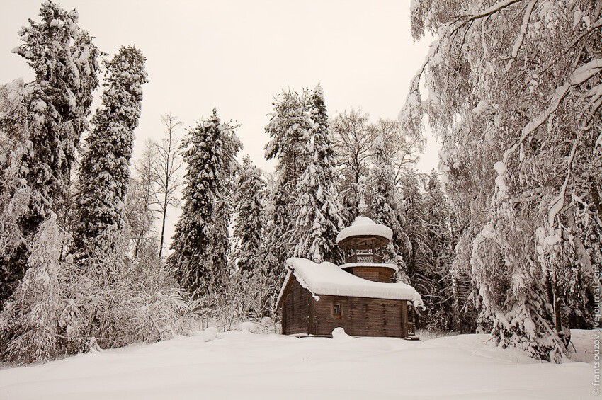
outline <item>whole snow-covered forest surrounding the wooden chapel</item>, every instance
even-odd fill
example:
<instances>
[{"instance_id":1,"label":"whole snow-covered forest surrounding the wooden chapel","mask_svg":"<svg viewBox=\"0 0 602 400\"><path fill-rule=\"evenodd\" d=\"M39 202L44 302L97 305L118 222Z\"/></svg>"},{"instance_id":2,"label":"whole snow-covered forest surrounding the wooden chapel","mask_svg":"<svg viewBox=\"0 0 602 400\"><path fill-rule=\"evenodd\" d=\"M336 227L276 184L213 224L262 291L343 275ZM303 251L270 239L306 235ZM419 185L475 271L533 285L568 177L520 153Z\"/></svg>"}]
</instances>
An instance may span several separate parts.
<instances>
[{"instance_id":1,"label":"whole snow-covered forest surrounding the wooden chapel","mask_svg":"<svg viewBox=\"0 0 602 400\"><path fill-rule=\"evenodd\" d=\"M319 84L277 93L266 173L239 158L238 125L215 109L183 137L163 115L164 138L132 160L144 55L125 46L99 62L76 11L45 1L13 50L34 81L0 86L2 360L277 320L285 259L342 263L336 234L360 200L394 232L386 261L423 296L420 328L491 332L561 360L569 328L598 322L601 6L469 3L412 6L414 38L439 39L399 121L329 115ZM416 172L425 115L441 178Z\"/></svg>"}]
</instances>

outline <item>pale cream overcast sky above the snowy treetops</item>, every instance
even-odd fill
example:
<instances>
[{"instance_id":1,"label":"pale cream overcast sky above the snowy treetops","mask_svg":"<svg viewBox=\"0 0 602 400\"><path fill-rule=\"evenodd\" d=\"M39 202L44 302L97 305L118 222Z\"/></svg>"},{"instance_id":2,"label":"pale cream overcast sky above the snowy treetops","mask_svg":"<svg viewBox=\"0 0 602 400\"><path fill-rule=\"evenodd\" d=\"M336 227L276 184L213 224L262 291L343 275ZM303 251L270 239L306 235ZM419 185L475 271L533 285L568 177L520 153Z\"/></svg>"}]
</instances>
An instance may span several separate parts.
<instances>
[{"instance_id":1,"label":"pale cream overcast sky above the snowy treetops","mask_svg":"<svg viewBox=\"0 0 602 400\"><path fill-rule=\"evenodd\" d=\"M57 2L79 11L79 25L109 57L120 45L136 45L147 57L135 157L145 138L164 134L161 114L191 127L217 107L222 120L242 124L241 154L271 171L263 128L275 94L320 82L331 116L361 107L373 121L397 118L429 44L411 39L409 0ZM28 18L40 20L41 0L0 4L0 84L31 80L11 49L21 44L17 31ZM438 162L438 146L429 142L423 172Z\"/></svg>"}]
</instances>

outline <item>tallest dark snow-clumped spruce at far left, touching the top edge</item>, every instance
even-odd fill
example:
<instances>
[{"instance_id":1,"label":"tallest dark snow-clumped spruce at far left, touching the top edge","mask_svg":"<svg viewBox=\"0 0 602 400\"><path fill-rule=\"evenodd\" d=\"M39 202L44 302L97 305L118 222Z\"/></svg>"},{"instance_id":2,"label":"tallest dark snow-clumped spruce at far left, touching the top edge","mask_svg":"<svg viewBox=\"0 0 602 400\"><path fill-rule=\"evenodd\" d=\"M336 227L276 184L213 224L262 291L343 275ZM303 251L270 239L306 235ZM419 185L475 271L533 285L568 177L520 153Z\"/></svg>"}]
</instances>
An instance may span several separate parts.
<instances>
[{"instance_id":1,"label":"tallest dark snow-clumped spruce at far left, touching the top edge","mask_svg":"<svg viewBox=\"0 0 602 400\"><path fill-rule=\"evenodd\" d=\"M29 254L27 244L42 221L52 210L63 219L63 200L76 146L81 132L86 130L92 92L98 86L100 52L77 25L77 11L64 11L52 1L45 1L40 17L41 22L30 20L19 32L23 44L13 50L35 72L35 80L23 90L23 104L28 112L21 123L28 127L30 144L18 161L19 178L30 188L30 199L28 212L18 221L24 240L16 248L4 249L0 257L0 281L8 281L8 286L3 283L0 290L2 300L6 299L5 293L14 289L11 282L23 277Z\"/></svg>"}]
</instances>

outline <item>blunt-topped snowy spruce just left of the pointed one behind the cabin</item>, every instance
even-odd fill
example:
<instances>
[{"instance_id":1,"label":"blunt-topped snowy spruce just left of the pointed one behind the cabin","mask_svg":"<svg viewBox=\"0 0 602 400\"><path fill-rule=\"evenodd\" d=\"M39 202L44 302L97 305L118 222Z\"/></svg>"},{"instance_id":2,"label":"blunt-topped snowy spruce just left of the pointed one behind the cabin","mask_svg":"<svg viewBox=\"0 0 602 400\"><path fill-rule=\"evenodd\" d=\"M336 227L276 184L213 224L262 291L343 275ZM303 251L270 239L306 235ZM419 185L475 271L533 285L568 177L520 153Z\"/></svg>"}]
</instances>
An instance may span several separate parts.
<instances>
[{"instance_id":1,"label":"blunt-topped snowy spruce just left of the pointed one behind the cabin","mask_svg":"<svg viewBox=\"0 0 602 400\"><path fill-rule=\"evenodd\" d=\"M306 96L305 92L300 96L295 91L283 91L273 103L274 110L266 126L271 137L266 144L266 159L278 159L266 234L266 259L274 277L282 275L285 259L293 254L290 237L295 220L295 187L309 164L307 142L312 120L305 110Z\"/></svg>"}]
</instances>

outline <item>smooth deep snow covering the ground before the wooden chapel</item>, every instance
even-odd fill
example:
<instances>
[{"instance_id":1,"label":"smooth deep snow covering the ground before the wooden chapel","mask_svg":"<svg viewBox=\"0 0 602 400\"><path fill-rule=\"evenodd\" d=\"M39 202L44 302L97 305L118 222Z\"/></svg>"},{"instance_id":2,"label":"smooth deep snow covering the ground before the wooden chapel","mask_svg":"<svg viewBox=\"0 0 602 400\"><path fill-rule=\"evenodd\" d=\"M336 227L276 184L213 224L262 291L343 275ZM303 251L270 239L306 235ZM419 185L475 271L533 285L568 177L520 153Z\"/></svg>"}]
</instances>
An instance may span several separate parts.
<instances>
[{"instance_id":1,"label":"smooth deep snow covering the ground before the wooden chapel","mask_svg":"<svg viewBox=\"0 0 602 400\"><path fill-rule=\"evenodd\" d=\"M585 362L538 362L487 335L428 341L205 331L153 345L0 370L1 399L588 399Z\"/></svg>"}]
</instances>

